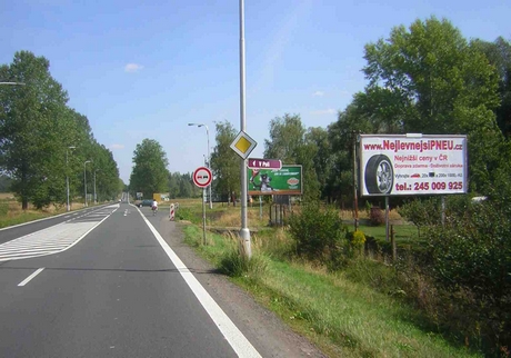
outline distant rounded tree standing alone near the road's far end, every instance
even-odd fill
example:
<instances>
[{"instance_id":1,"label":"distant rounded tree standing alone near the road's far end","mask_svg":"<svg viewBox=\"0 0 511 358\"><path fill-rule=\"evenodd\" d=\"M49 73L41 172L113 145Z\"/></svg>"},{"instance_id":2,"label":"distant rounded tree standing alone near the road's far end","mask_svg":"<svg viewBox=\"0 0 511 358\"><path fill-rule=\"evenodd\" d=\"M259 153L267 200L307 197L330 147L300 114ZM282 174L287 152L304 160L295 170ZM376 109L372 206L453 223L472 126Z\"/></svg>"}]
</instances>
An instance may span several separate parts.
<instances>
[{"instance_id":1,"label":"distant rounded tree standing alone near the road's far end","mask_svg":"<svg viewBox=\"0 0 511 358\"><path fill-rule=\"evenodd\" d=\"M142 192L151 198L154 192L167 192L169 161L163 148L154 139L146 138L133 151L133 169L130 176L130 191L134 197Z\"/></svg>"}]
</instances>

